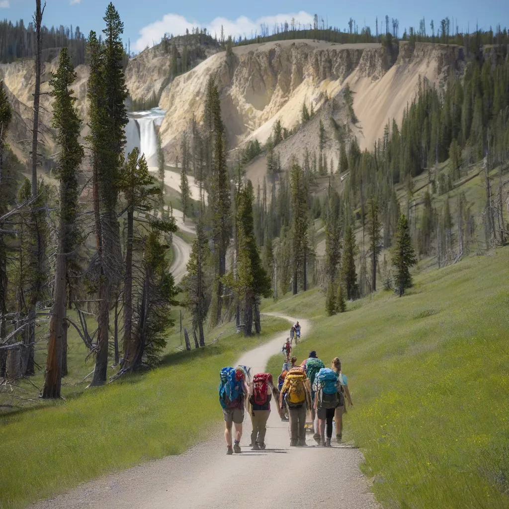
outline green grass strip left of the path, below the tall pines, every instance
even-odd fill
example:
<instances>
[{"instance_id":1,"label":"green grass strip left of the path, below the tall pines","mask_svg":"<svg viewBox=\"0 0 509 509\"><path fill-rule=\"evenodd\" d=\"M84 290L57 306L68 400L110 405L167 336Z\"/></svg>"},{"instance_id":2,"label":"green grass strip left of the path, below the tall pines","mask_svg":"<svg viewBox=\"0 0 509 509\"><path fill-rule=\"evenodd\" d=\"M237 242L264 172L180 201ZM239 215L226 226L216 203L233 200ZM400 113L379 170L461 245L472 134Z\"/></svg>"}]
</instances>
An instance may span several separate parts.
<instances>
[{"instance_id":1,"label":"green grass strip left of the path, below the tall pines","mask_svg":"<svg viewBox=\"0 0 509 509\"><path fill-rule=\"evenodd\" d=\"M209 437L222 419L220 368L288 326L286 320L262 320L259 337L236 335L228 324L214 345L167 355L157 369L2 417L0 507L24 507L99 475L182 453Z\"/></svg>"}]
</instances>

